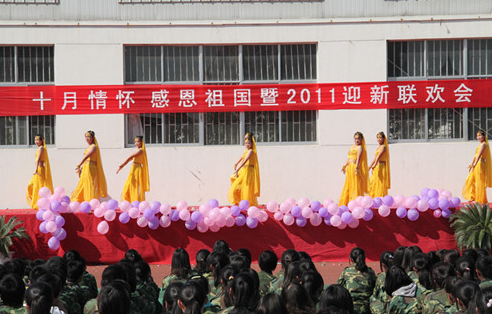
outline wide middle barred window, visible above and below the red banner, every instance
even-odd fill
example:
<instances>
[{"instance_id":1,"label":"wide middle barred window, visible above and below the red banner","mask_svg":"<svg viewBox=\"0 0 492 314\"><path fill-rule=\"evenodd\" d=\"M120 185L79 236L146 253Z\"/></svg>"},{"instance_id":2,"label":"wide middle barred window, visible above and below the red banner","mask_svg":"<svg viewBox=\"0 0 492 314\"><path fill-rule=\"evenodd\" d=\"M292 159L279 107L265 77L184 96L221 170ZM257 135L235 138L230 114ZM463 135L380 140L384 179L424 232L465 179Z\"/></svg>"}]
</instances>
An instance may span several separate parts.
<instances>
[{"instance_id":1,"label":"wide middle barred window, visible above and below the red banner","mask_svg":"<svg viewBox=\"0 0 492 314\"><path fill-rule=\"evenodd\" d=\"M126 46L127 84L306 83L316 81L316 44ZM128 115L127 145L236 145L243 132L257 142L315 142L316 111ZM242 131L241 131L242 130Z\"/></svg>"}]
</instances>

